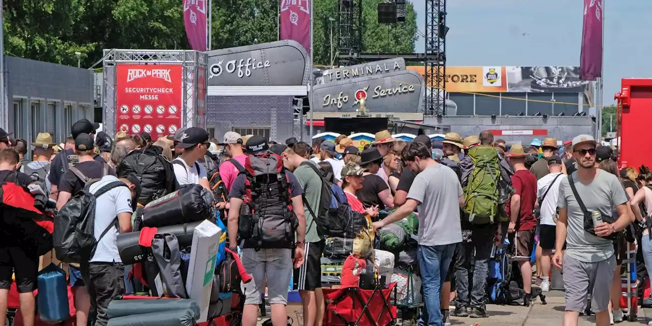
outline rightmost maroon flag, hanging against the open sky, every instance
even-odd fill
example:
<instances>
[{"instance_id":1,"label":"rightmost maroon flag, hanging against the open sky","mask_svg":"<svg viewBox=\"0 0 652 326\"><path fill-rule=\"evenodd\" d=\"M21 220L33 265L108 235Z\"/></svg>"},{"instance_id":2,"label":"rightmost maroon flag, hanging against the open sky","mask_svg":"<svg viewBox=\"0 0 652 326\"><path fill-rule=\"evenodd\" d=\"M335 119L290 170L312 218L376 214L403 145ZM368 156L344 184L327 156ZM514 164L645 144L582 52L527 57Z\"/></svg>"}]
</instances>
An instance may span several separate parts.
<instances>
[{"instance_id":1,"label":"rightmost maroon flag, hanging against the open sky","mask_svg":"<svg viewBox=\"0 0 652 326\"><path fill-rule=\"evenodd\" d=\"M580 79L602 77L602 0L584 0Z\"/></svg>"}]
</instances>

